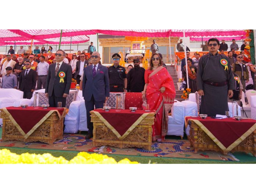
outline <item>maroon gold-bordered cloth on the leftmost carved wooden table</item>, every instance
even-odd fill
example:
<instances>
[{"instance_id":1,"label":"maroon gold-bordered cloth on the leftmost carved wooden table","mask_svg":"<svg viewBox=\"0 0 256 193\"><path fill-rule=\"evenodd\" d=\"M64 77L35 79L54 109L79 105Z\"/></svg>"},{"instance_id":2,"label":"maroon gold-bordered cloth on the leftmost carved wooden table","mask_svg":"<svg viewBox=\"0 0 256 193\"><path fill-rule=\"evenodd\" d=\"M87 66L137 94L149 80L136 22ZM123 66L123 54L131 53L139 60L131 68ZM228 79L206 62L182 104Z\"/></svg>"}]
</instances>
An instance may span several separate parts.
<instances>
[{"instance_id":1,"label":"maroon gold-bordered cloth on the leftmost carved wooden table","mask_svg":"<svg viewBox=\"0 0 256 193\"><path fill-rule=\"evenodd\" d=\"M49 107L6 107L3 111L8 115L11 122L17 127L18 131L25 139L29 137L54 111L61 119L66 108Z\"/></svg>"}]
</instances>

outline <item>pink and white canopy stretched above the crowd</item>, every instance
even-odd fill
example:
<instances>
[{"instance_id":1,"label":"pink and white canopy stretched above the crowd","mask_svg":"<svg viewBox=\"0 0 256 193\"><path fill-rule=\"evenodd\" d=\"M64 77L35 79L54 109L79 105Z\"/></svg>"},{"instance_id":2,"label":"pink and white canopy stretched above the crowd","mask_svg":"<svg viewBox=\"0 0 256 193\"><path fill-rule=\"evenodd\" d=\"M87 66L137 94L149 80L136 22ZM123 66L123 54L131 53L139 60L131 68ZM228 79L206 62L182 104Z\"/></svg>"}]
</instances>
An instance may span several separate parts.
<instances>
[{"instance_id":1,"label":"pink and white canopy stretched above the crowd","mask_svg":"<svg viewBox=\"0 0 256 193\"><path fill-rule=\"evenodd\" d=\"M241 29L63 29L61 44L88 42L87 35L102 33L115 36L139 37L190 37L192 41L208 40L211 37L219 39L243 39L245 31ZM33 39L36 44L58 44L60 42L60 29L1 29L0 44L31 44Z\"/></svg>"}]
</instances>

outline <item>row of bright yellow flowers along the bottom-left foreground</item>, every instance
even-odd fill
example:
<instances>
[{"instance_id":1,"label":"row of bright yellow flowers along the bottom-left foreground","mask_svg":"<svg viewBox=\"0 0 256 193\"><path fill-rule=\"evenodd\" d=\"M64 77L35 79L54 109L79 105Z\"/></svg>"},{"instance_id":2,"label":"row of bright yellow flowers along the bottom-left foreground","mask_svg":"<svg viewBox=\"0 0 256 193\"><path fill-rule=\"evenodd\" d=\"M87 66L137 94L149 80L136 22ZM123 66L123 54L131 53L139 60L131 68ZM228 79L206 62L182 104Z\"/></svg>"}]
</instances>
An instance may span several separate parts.
<instances>
[{"instance_id":1,"label":"row of bright yellow flowers along the bottom-left foreground","mask_svg":"<svg viewBox=\"0 0 256 193\"><path fill-rule=\"evenodd\" d=\"M80 152L72 160L68 161L64 157L53 157L49 153L21 155L11 153L10 150L0 150L0 164L139 164L136 161L130 161L127 158L115 161L114 158L102 154L89 154Z\"/></svg>"}]
</instances>

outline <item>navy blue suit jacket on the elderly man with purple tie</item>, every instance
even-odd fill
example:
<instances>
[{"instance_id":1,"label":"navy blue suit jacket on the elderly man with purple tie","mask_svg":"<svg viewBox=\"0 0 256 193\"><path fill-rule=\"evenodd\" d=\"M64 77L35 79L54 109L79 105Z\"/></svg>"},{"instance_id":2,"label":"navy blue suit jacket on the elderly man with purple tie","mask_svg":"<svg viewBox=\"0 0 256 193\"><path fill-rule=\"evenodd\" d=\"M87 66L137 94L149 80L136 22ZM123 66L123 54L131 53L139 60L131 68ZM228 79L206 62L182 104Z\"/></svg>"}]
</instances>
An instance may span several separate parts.
<instances>
[{"instance_id":1,"label":"navy blue suit jacket on the elderly man with purple tie","mask_svg":"<svg viewBox=\"0 0 256 193\"><path fill-rule=\"evenodd\" d=\"M83 98L90 101L93 95L95 101L104 101L109 97L109 71L99 64L93 78L92 68L93 65L89 65L83 71Z\"/></svg>"}]
</instances>

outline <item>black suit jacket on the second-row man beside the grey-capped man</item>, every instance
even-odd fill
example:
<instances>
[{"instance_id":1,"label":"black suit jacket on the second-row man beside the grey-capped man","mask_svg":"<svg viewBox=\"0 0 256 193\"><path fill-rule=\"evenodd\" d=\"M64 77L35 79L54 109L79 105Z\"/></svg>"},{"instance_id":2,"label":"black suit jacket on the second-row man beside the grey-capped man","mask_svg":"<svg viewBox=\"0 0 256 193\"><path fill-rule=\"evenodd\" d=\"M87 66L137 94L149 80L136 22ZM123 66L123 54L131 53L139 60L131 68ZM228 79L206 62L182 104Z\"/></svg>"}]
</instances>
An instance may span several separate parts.
<instances>
[{"instance_id":1,"label":"black suit jacket on the second-row man beside the grey-capped man","mask_svg":"<svg viewBox=\"0 0 256 193\"><path fill-rule=\"evenodd\" d=\"M25 72L26 69L21 71L19 77L19 89L23 92L31 92L31 89L36 89L36 71L30 69L26 76Z\"/></svg>"}]
</instances>

